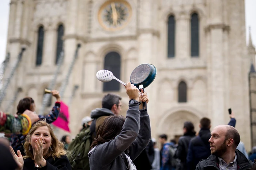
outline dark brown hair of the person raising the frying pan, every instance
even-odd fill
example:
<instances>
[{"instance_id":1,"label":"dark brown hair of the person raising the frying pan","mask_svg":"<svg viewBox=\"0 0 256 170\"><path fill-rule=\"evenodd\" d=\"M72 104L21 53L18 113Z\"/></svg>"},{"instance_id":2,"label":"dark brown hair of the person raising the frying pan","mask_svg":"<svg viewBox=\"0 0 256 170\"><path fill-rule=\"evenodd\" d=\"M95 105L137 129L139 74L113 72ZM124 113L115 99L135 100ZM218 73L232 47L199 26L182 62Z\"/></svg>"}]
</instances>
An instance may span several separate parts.
<instances>
[{"instance_id":1,"label":"dark brown hair of the person raising the frying pan","mask_svg":"<svg viewBox=\"0 0 256 170\"><path fill-rule=\"evenodd\" d=\"M93 149L94 146L109 142L110 140L114 139L118 134L121 133L124 121L125 118L121 115L113 115L106 118L102 125L99 127L96 138L91 144L90 149Z\"/></svg>"}]
</instances>

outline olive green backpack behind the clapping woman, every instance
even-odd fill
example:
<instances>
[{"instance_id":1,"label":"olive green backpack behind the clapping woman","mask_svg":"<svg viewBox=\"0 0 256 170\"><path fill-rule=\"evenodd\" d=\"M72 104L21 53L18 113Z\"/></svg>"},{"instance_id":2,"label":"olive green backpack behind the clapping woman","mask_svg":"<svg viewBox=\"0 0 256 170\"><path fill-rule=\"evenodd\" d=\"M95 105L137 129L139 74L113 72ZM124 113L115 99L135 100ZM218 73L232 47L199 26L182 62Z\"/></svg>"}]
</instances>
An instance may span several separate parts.
<instances>
[{"instance_id":1,"label":"olive green backpack behind the clapping woman","mask_svg":"<svg viewBox=\"0 0 256 170\"><path fill-rule=\"evenodd\" d=\"M92 138L90 128L82 130L68 146L67 157L72 170L90 170L88 153Z\"/></svg>"}]
</instances>

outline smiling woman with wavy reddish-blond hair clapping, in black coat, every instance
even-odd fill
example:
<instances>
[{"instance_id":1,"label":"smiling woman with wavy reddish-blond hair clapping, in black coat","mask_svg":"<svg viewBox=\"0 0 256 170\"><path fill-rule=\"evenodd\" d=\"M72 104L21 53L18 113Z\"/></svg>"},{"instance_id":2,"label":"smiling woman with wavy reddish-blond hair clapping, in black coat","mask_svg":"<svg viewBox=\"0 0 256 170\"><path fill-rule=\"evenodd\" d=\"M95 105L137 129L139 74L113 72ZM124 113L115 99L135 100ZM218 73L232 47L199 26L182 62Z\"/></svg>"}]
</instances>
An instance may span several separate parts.
<instances>
[{"instance_id":1,"label":"smiling woman with wavy reddish-blond hair clapping, in black coat","mask_svg":"<svg viewBox=\"0 0 256 170\"><path fill-rule=\"evenodd\" d=\"M18 165L18 170L71 170L64 145L53 133L50 124L44 120L34 124L24 144L26 156L18 156L12 147L11 153Z\"/></svg>"}]
</instances>

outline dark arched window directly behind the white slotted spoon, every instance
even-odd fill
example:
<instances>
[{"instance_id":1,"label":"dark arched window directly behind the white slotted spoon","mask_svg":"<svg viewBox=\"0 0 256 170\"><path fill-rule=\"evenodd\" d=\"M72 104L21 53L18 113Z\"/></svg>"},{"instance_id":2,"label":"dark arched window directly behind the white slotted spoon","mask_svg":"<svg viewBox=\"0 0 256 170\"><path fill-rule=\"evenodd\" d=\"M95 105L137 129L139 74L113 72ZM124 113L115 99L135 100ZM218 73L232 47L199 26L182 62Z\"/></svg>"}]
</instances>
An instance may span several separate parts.
<instances>
[{"instance_id":1,"label":"dark arched window directly behind the white slotted spoon","mask_svg":"<svg viewBox=\"0 0 256 170\"><path fill-rule=\"evenodd\" d=\"M121 57L117 52L109 52L105 56L104 69L109 70L113 75L120 79ZM111 80L103 84L103 91L119 91L120 83L116 80Z\"/></svg>"}]
</instances>

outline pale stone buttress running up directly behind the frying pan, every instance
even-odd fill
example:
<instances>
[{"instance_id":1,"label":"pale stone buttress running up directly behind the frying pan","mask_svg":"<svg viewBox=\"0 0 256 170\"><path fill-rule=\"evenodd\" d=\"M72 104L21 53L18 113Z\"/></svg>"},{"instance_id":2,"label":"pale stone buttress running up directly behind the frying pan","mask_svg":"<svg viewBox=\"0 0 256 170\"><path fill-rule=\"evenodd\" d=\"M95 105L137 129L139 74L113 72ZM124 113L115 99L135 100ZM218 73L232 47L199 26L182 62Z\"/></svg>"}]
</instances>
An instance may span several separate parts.
<instances>
[{"instance_id":1,"label":"pale stone buttress running up directly behind the frying pan","mask_svg":"<svg viewBox=\"0 0 256 170\"><path fill-rule=\"evenodd\" d=\"M139 7L139 36L138 36L138 65L143 63L154 64L157 67L157 45L158 41L157 30L155 25L157 19L153 19L153 15L157 15L157 8L154 5L157 4L155 0L141 0ZM156 135L157 124L157 80L148 86L145 91L150 96L150 103L148 103L147 109L150 115L151 122L151 134L152 137Z\"/></svg>"}]
</instances>

